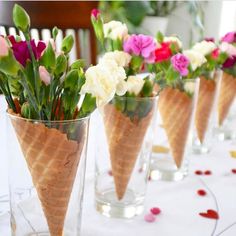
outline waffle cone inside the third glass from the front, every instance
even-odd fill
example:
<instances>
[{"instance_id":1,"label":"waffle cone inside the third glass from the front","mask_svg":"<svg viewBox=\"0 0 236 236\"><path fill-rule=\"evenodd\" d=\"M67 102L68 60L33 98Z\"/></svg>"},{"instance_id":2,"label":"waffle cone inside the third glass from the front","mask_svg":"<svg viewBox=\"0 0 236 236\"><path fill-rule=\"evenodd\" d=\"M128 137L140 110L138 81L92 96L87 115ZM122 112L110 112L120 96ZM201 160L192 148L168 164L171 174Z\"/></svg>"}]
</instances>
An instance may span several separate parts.
<instances>
[{"instance_id":1,"label":"waffle cone inside the third glass from the front","mask_svg":"<svg viewBox=\"0 0 236 236\"><path fill-rule=\"evenodd\" d=\"M192 99L178 89L165 88L158 109L176 166L181 167L193 110Z\"/></svg>"}]
</instances>

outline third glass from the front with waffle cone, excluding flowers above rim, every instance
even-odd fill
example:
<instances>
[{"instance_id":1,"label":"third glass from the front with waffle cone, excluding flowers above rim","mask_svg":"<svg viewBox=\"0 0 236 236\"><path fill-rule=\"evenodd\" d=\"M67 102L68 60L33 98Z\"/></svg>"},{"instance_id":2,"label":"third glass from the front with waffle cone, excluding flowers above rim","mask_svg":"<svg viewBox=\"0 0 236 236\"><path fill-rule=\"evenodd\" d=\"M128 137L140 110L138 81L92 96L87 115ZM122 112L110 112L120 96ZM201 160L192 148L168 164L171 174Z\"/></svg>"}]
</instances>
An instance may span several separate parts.
<instances>
[{"instance_id":1,"label":"third glass from the front with waffle cone, excluding flowers above rim","mask_svg":"<svg viewBox=\"0 0 236 236\"><path fill-rule=\"evenodd\" d=\"M151 179L178 181L187 175L198 87L198 79L188 79L182 88L166 87L160 92Z\"/></svg>"}]
</instances>

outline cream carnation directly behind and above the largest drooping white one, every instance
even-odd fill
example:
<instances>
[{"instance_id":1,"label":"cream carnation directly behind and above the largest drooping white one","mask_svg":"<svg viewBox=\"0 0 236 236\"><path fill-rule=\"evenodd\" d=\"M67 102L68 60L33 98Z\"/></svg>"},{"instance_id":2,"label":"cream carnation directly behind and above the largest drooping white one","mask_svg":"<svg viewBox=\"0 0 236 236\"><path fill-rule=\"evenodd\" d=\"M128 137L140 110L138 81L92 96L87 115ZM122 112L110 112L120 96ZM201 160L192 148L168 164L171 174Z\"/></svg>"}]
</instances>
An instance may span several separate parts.
<instances>
[{"instance_id":1,"label":"cream carnation directly behind and above the largest drooping white one","mask_svg":"<svg viewBox=\"0 0 236 236\"><path fill-rule=\"evenodd\" d=\"M101 58L102 60L114 60L118 66L126 67L129 65L131 60L131 55L123 51L114 51L114 52L107 52Z\"/></svg>"}]
</instances>

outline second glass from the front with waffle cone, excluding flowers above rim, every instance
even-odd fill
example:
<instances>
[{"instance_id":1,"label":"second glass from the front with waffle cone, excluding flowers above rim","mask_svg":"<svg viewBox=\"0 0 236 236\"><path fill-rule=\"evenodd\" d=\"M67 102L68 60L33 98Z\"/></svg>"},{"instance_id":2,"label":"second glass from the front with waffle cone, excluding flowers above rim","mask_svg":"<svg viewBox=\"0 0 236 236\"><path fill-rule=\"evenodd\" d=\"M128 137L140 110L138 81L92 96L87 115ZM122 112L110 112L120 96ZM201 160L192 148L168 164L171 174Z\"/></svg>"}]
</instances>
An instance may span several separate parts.
<instances>
[{"instance_id":1,"label":"second glass from the front with waffle cone, excluding flowers above rim","mask_svg":"<svg viewBox=\"0 0 236 236\"><path fill-rule=\"evenodd\" d=\"M100 111L95 195L105 216L142 213L156 105L156 97L115 97Z\"/></svg>"}]
</instances>

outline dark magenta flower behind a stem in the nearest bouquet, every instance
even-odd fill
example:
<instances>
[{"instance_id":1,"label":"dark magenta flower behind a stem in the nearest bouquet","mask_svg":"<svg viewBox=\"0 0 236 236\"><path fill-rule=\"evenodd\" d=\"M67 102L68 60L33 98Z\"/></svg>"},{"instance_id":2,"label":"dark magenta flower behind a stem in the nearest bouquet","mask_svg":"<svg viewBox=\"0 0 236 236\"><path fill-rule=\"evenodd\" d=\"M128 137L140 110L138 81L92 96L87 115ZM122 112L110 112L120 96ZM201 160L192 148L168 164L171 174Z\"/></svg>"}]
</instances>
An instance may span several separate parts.
<instances>
[{"instance_id":1,"label":"dark magenta flower behind a stem in the nearest bouquet","mask_svg":"<svg viewBox=\"0 0 236 236\"><path fill-rule=\"evenodd\" d=\"M9 40L12 44L12 50L16 60L23 66L26 65L27 60L31 60L30 52L27 46L26 41L17 42L14 36L9 36ZM30 41L30 45L32 47L35 59L38 60L44 49L46 48L46 44L43 41L39 41L38 44L35 44L34 40Z\"/></svg>"}]
</instances>

